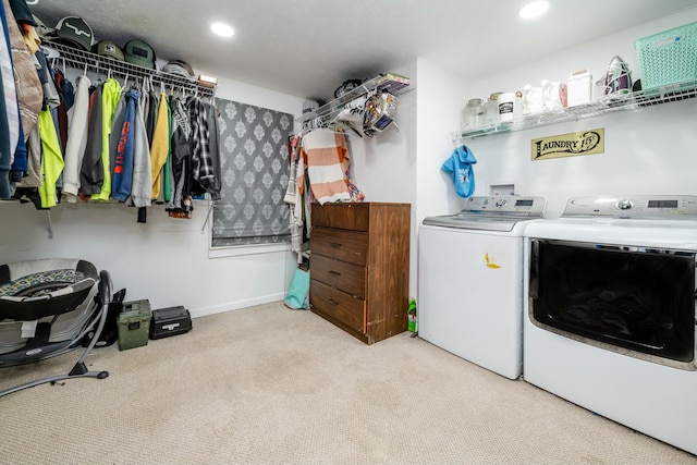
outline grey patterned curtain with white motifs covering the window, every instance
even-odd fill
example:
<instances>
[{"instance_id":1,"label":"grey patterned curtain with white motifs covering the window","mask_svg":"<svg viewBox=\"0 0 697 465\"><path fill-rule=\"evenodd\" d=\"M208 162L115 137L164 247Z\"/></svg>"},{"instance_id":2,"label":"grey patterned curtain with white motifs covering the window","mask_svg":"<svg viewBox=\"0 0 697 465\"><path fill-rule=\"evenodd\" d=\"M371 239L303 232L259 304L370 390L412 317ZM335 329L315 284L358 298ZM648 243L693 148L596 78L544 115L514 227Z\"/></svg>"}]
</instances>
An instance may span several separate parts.
<instances>
[{"instance_id":1,"label":"grey patterned curtain with white motifs covering the window","mask_svg":"<svg viewBox=\"0 0 697 465\"><path fill-rule=\"evenodd\" d=\"M289 137L293 115L217 99L221 199L213 207L212 246L290 242Z\"/></svg>"}]
</instances>

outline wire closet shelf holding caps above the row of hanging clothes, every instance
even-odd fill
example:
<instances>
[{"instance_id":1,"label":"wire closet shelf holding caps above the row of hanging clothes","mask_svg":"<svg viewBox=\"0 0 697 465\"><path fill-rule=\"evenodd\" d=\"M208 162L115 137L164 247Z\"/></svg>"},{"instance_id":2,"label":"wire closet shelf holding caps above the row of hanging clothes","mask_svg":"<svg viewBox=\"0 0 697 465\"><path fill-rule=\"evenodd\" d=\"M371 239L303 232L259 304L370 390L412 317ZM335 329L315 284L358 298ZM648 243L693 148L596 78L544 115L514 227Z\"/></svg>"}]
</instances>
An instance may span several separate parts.
<instances>
[{"instance_id":1,"label":"wire closet shelf holding caps above the row of hanging clothes","mask_svg":"<svg viewBox=\"0 0 697 465\"><path fill-rule=\"evenodd\" d=\"M162 86L171 90L179 90L183 94L196 95L201 98L213 97L215 86L200 84L195 79L187 79L179 74L166 73L163 71L151 70L137 64L120 61L111 57L80 50L64 44L52 40L45 40L44 45L57 50L60 57L56 58L56 64L65 64L77 70L93 70L97 74L118 74L124 78L150 79L154 85Z\"/></svg>"}]
</instances>

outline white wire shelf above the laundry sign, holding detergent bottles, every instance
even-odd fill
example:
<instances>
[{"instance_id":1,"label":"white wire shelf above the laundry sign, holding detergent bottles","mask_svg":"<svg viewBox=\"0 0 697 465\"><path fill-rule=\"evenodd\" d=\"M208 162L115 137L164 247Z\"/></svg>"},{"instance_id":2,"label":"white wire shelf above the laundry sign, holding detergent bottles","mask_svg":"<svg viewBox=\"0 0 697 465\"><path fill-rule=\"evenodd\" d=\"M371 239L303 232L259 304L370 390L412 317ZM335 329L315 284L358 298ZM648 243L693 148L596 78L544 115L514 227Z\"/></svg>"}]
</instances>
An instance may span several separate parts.
<instances>
[{"instance_id":1,"label":"white wire shelf above the laundry sign, holding detergent bottles","mask_svg":"<svg viewBox=\"0 0 697 465\"><path fill-rule=\"evenodd\" d=\"M567 121L579 121L615 111L639 110L645 107L685 100L696 96L697 81L682 82L660 88L637 90L622 95L608 95L589 103L526 114L510 122L482 126L472 131L456 131L449 134L449 139L453 144L460 145L463 140L474 137L524 131Z\"/></svg>"}]
</instances>

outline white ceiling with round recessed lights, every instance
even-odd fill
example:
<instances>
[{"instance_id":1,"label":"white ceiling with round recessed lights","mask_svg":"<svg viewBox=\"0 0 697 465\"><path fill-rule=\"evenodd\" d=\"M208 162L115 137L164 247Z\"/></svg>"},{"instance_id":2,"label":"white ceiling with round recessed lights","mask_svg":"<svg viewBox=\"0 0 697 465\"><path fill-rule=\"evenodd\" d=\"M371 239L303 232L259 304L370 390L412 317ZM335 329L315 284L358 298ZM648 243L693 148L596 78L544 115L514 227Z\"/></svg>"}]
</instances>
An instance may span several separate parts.
<instances>
[{"instance_id":1,"label":"white ceiling with round recessed lights","mask_svg":"<svg viewBox=\"0 0 697 465\"><path fill-rule=\"evenodd\" d=\"M550 0L523 21L525 0L29 0L49 27L83 17L97 40L147 41L158 59L284 94L330 100L345 79L428 59L478 79L697 5L697 0ZM210 33L211 22L235 29Z\"/></svg>"}]
</instances>

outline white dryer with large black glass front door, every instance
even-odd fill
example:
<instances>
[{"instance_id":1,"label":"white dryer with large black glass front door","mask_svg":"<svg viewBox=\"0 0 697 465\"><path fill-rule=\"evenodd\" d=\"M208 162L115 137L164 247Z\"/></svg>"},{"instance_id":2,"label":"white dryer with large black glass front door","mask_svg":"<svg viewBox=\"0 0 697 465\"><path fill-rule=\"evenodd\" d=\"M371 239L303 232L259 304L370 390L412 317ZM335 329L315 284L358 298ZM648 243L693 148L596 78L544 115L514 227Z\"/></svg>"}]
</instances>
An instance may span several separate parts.
<instances>
[{"instance_id":1,"label":"white dryer with large black glass front door","mask_svg":"<svg viewBox=\"0 0 697 465\"><path fill-rule=\"evenodd\" d=\"M697 196L572 198L525 237L525 380L697 453Z\"/></svg>"}]
</instances>

